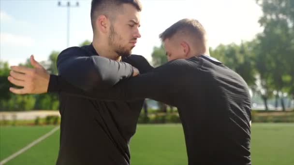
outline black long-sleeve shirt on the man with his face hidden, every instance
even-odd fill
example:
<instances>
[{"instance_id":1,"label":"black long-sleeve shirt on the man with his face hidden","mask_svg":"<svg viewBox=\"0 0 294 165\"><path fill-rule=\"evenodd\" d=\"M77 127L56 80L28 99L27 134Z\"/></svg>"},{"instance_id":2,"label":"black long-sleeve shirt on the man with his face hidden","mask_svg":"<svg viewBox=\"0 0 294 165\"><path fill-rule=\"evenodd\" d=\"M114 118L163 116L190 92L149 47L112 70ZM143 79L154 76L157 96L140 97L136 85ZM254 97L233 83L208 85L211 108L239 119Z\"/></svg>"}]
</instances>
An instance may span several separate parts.
<instances>
[{"instance_id":1,"label":"black long-sleeve shirt on the man with his face hidden","mask_svg":"<svg viewBox=\"0 0 294 165\"><path fill-rule=\"evenodd\" d=\"M76 89L54 75L50 81L50 91L72 96L104 101L151 98L176 106L189 165L251 165L248 86L210 57L173 60L104 92Z\"/></svg>"}]
</instances>

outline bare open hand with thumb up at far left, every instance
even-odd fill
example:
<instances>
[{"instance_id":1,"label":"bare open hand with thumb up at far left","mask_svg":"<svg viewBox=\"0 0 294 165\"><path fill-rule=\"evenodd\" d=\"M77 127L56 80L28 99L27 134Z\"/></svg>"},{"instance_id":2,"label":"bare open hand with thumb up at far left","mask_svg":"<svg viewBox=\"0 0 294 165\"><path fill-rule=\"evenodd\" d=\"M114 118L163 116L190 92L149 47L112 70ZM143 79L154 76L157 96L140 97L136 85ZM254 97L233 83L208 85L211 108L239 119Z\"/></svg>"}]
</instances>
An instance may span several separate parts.
<instances>
[{"instance_id":1,"label":"bare open hand with thumb up at far left","mask_svg":"<svg viewBox=\"0 0 294 165\"><path fill-rule=\"evenodd\" d=\"M8 80L23 88L9 88L15 94L42 94L46 93L50 74L30 56L30 63L34 68L12 66Z\"/></svg>"}]
</instances>

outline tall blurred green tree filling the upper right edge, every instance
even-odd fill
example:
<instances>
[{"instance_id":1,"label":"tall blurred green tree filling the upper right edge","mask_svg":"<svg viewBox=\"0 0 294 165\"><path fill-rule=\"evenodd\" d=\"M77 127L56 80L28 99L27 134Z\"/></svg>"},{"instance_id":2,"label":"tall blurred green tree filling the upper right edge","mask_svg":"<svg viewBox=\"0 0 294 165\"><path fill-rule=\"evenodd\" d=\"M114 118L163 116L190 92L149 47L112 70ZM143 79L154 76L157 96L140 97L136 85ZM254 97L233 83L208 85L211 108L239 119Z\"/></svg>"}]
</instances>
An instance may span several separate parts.
<instances>
[{"instance_id":1,"label":"tall blurred green tree filling the upper right edge","mask_svg":"<svg viewBox=\"0 0 294 165\"><path fill-rule=\"evenodd\" d=\"M293 0L256 0L262 7L263 16L259 23L264 31L259 40L259 58L265 60L267 71L272 79L270 86L280 97L285 110L284 93L294 96L294 1Z\"/></svg>"}]
</instances>

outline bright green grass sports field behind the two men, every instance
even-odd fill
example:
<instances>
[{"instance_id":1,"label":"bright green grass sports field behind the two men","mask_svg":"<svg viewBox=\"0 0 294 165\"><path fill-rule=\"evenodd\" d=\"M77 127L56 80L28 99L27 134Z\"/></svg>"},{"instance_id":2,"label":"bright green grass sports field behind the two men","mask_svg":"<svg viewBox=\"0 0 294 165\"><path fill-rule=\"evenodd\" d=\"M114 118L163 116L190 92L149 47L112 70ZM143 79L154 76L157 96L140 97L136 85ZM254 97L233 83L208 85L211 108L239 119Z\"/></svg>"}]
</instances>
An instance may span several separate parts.
<instances>
[{"instance_id":1,"label":"bright green grass sports field behind the two men","mask_svg":"<svg viewBox=\"0 0 294 165\"><path fill-rule=\"evenodd\" d=\"M0 127L0 160L25 147L54 126ZM54 165L59 131L5 165ZM139 124L131 140L132 165L187 165L180 124ZM294 124L252 124L252 165L294 165Z\"/></svg>"}]
</instances>

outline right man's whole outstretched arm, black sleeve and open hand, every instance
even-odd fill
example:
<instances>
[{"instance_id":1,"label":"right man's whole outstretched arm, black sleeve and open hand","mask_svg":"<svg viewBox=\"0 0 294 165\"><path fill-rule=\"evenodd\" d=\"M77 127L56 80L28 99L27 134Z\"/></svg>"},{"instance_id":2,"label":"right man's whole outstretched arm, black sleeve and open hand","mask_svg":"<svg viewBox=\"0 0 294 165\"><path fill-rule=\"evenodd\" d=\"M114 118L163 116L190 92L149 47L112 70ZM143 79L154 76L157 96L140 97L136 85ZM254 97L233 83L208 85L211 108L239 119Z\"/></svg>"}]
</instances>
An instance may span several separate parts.
<instances>
[{"instance_id":1,"label":"right man's whole outstretched arm, black sleeve and open hand","mask_svg":"<svg viewBox=\"0 0 294 165\"><path fill-rule=\"evenodd\" d=\"M32 60L33 58L31 58ZM9 80L11 83L23 86L22 89L10 89L16 94L64 92L68 95L82 96L99 100L137 100L151 98L166 104L176 106L175 97L184 87L185 73L188 70L184 60L175 60L166 63L151 71L120 81L109 89L83 90L75 87L65 80L61 75L49 75L48 72L36 61L32 60L34 69L26 70L25 74L19 67L11 72ZM50 83L49 83L50 78ZM22 79L24 81L19 81ZM48 84L48 85L44 85ZM46 88L44 88L46 87Z\"/></svg>"}]
</instances>

